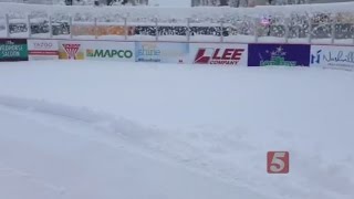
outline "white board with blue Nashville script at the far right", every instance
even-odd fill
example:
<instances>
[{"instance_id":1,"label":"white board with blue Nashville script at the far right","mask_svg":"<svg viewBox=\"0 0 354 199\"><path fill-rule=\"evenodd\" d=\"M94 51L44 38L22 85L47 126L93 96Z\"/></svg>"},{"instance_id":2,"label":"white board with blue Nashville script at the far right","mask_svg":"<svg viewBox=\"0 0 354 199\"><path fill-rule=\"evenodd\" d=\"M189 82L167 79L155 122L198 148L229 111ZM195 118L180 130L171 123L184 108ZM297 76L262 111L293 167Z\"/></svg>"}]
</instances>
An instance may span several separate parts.
<instances>
[{"instance_id":1,"label":"white board with blue Nashville script at the far right","mask_svg":"<svg viewBox=\"0 0 354 199\"><path fill-rule=\"evenodd\" d=\"M352 71L354 46L311 45L310 66Z\"/></svg>"}]
</instances>

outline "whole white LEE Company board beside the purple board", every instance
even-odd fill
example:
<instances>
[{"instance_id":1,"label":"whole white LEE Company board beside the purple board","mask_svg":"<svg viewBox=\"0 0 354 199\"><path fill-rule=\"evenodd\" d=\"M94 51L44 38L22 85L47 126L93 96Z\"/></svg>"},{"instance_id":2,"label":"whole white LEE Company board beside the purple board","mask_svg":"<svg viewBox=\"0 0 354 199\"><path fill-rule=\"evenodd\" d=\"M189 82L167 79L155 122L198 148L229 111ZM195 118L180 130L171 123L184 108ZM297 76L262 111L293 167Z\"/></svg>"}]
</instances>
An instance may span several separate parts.
<instances>
[{"instance_id":1,"label":"whole white LEE Company board beside the purple board","mask_svg":"<svg viewBox=\"0 0 354 199\"><path fill-rule=\"evenodd\" d=\"M247 44L191 44L194 64L247 65Z\"/></svg>"}]
</instances>

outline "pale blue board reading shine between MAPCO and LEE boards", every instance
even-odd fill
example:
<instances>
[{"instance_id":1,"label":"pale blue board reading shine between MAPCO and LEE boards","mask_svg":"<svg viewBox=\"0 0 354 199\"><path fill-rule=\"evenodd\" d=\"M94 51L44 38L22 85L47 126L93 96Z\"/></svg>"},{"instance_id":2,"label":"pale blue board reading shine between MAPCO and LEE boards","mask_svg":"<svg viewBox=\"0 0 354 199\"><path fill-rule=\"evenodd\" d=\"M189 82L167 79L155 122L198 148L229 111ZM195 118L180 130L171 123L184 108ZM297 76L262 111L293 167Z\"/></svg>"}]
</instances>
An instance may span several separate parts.
<instances>
[{"instance_id":1,"label":"pale blue board reading shine between MAPCO and LEE boards","mask_svg":"<svg viewBox=\"0 0 354 199\"><path fill-rule=\"evenodd\" d=\"M188 43L136 42L136 62L188 63Z\"/></svg>"}]
</instances>

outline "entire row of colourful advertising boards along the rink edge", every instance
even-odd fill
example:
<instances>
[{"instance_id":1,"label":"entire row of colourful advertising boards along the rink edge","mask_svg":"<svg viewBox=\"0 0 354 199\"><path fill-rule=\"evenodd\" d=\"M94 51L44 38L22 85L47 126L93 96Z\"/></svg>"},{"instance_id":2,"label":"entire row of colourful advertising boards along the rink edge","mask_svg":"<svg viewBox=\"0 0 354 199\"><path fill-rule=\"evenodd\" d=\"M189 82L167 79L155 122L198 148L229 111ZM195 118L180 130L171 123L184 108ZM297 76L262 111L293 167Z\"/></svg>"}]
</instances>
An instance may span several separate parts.
<instances>
[{"instance_id":1,"label":"entire row of colourful advertising boards along the rink edge","mask_svg":"<svg viewBox=\"0 0 354 199\"><path fill-rule=\"evenodd\" d=\"M3 39L2 41L4 42L0 45L2 61L23 61L30 57L30 60L94 60L225 66L312 66L345 71L354 69L353 45L70 39L28 41ZM21 41L23 46L13 46L14 41Z\"/></svg>"}]
</instances>

